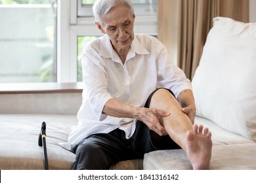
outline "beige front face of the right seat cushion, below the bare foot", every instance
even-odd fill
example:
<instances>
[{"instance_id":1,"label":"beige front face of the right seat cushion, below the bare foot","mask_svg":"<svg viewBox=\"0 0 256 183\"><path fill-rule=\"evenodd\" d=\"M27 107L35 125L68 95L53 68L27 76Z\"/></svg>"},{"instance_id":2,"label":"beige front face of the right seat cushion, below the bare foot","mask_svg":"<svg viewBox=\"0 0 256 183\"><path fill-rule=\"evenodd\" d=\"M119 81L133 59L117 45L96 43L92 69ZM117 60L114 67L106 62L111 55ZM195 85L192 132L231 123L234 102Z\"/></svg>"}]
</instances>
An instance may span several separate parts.
<instances>
[{"instance_id":1,"label":"beige front face of the right seat cushion, below the bare foot","mask_svg":"<svg viewBox=\"0 0 256 183\"><path fill-rule=\"evenodd\" d=\"M213 146L211 170L255 170L256 144L228 144ZM183 150L154 151L144 156L145 170L192 170Z\"/></svg>"}]
</instances>

